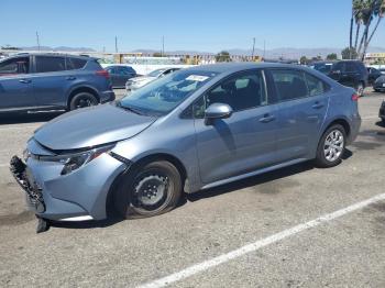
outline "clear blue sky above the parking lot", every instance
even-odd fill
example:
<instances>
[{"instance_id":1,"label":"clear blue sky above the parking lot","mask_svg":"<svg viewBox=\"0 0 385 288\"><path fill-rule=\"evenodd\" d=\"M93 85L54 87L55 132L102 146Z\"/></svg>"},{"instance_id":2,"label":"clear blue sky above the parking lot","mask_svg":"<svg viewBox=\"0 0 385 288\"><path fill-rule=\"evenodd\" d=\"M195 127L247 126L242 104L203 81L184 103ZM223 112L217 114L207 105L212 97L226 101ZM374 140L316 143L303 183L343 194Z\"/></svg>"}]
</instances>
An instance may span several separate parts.
<instances>
[{"instance_id":1,"label":"clear blue sky above the parking lot","mask_svg":"<svg viewBox=\"0 0 385 288\"><path fill-rule=\"evenodd\" d=\"M1 0L0 45L219 52L349 45L351 0ZM385 20L371 46L385 47Z\"/></svg>"}]
</instances>

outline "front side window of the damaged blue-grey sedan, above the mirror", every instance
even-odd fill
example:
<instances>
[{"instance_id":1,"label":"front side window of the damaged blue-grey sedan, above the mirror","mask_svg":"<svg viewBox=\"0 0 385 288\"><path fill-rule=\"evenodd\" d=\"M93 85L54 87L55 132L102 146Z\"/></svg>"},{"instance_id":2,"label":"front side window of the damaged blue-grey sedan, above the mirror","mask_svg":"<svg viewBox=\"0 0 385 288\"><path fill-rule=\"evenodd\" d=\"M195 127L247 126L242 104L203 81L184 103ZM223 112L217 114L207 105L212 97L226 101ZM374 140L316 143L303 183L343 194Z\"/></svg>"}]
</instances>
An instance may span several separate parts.
<instances>
[{"instance_id":1,"label":"front side window of the damaged blue-grey sedan, above the mirror","mask_svg":"<svg viewBox=\"0 0 385 288\"><path fill-rule=\"evenodd\" d=\"M234 76L215 87L206 96L206 107L229 104L234 111L266 104L265 81L260 70Z\"/></svg>"}]
</instances>

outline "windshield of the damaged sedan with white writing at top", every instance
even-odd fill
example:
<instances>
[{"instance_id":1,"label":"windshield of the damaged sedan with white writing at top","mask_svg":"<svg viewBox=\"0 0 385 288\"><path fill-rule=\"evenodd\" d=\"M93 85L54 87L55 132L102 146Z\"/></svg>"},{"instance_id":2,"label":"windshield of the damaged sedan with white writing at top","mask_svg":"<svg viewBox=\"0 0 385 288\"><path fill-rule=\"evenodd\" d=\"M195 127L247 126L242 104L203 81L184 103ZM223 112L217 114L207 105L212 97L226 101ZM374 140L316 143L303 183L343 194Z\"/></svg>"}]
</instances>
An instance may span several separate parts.
<instances>
[{"instance_id":1,"label":"windshield of the damaged sedan with white writing at top","mask_svg":"<svg viewBox=\"0 0 385 288\"><path fill-rule=\"evenodd\" d=\"M179 70L124 97L118 106L142 114L164 115L216 75L218 73Z\"/></svg>"}]
</instances>

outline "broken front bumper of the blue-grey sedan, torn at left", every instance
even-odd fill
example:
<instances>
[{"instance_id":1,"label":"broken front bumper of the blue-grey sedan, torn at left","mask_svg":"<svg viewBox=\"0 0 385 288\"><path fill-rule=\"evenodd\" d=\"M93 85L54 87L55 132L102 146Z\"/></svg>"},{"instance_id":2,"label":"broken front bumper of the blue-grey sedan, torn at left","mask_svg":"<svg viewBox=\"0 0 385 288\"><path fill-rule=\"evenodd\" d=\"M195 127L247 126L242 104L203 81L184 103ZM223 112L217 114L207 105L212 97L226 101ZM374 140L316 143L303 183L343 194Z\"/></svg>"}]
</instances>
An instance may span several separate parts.
<instances>
[{"instance_id":1,"label":"broken front bumper of the blue-grey sedan, torn at left","mask_svg":"<svg viewBox=\"0 0 385 288\"><path fill-rule=\"evenodd\" d=\"M106 219L112 184L128 168L107 153L68 175L61 175L62 163L38 157L29 157L24 163L13 156L10 166L25 191L29 209L41 219L55 221Z\"/></svg>"}]
</instances>

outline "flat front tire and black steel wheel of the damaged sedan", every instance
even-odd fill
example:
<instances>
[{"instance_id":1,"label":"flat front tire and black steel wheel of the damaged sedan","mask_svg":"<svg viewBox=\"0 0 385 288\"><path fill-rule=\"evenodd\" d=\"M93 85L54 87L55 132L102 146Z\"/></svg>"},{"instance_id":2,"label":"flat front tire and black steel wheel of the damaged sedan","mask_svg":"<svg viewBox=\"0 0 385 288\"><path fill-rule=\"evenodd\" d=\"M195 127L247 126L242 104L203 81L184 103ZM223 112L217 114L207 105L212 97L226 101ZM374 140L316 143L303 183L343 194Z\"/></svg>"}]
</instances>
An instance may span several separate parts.
<instances>
[{"instance_id":1,"label":"flat front tire and black steel wheel of the damaged sedan","mask_svg":"<svg viewBox=\"0 0 385 288\"><path fill-rule=\"evenodd\" d=\"M183 192L178 169L166 160L133 168L119 186L114 198L116 210L125 219L168 212L178 204Z\"/></svg>"}]
</instances>

